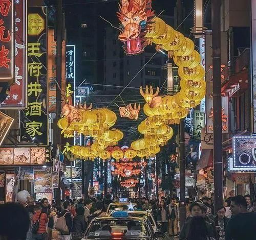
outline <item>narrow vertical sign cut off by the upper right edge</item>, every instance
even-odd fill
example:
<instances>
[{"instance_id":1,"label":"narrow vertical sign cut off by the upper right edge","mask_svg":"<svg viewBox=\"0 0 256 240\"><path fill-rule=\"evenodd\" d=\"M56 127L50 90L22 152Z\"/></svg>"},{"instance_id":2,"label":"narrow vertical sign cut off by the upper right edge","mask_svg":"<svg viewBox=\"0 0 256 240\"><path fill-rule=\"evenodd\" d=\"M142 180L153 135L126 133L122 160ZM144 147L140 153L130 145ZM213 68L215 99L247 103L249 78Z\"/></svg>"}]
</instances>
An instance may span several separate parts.
<instances>
[{"instance_id":1,"label":"narrow vertical sign cut off by the upper right edge","mask_svg":"<svg viewBox=\"0 0 256 240\"><path fill-rule=\"evenodd\" d=\"M256 0L251 0L251 83L253 105L253 129L256 133Z\"/></svg>"}]
</instances>

